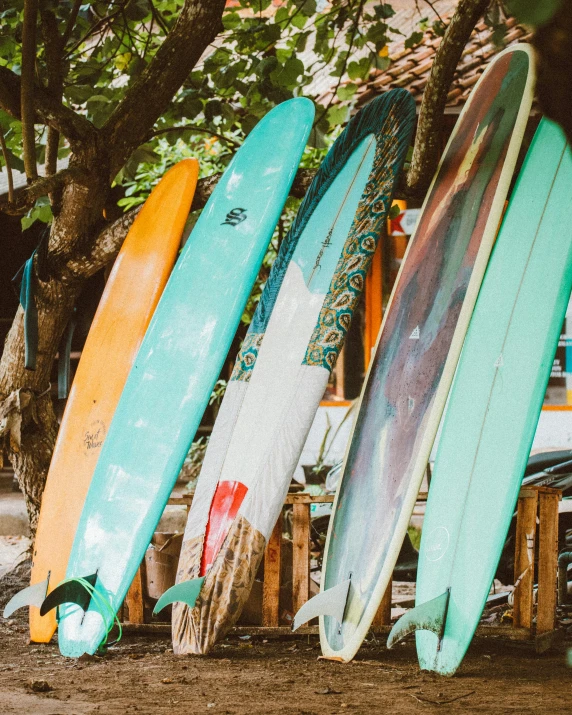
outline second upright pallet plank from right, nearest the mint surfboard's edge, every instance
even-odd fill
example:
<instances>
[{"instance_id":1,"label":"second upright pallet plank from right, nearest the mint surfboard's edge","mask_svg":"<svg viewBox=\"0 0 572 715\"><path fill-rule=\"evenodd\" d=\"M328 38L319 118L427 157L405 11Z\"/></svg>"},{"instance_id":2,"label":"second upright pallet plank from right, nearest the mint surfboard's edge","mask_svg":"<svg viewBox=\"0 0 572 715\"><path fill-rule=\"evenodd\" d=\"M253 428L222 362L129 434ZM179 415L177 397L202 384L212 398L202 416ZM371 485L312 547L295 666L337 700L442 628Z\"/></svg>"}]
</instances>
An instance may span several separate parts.
<instances>
[{"instance_id":1,"label":"second upright pallet plank from right, nearest the mint surfboard's edge","mask_svg":"<svg viewBox=\"0 0 572 715\"><path fill-rule=\"evenodd\" d=\"M519 496L516 517L513 625L530 629L538 494L534 490L526 491L530 491L530 496Z\"/></svg>"}]
</instances>

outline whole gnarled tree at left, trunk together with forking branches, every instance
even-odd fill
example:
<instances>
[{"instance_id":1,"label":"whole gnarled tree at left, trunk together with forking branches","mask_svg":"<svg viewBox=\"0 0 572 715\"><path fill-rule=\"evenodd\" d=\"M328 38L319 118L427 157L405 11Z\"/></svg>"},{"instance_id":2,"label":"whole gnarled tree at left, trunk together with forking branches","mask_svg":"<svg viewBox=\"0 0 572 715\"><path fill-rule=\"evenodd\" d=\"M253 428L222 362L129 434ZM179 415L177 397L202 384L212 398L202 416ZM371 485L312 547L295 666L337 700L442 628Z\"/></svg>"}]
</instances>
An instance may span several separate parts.
<instances>
[{"instance_id":1,"label":"whole gnarled tree at left, trunk together with forking branches","mask_svg":"<svg viewBox=\"0 0 572 715\"><path fill-rule=\"evenodd\" d=\"M16 193L13 202L0 206L6 213L21 214L39 196L61 192L41 279L35 261L39 323L36 370L24 368L21 308L0 358L0 437L26 496L32 533L58 429L49 395L58 345L85 280L114 257L134 218L127 216L103 231L103 209L111 179L152 129L218 33L224 4L224 0L186 0L155 58L100 130L61 102L56 64L62 53L57 40L52 44L49 88L36 84L30 96L23 80L0 67L0 107L21 120L26 116L23 108L31 108L32 122L48 125L54 142L54 132L66 137L72 149L66 170L33 181ZM49 19L44 16L42 21ZM152 102L149 97L153 97ZM50 170L54 165L52 152L48 157Z\"/></svg>"}]
</instances>

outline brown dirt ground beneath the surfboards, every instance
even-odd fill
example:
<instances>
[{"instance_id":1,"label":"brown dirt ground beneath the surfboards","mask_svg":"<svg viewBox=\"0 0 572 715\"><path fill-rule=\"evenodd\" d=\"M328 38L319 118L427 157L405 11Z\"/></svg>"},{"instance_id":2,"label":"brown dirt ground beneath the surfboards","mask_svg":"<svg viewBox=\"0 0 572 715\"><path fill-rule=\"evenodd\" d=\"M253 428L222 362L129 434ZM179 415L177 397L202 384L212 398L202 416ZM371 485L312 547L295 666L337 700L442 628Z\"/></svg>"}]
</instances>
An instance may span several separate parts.
<instances>
[{"instance_id":1,"label":"brown dirt ground beneath the surfboards","mask_svg":"<svg viewBox=\"0 0 572 715\"><path fill-rule=\"evenodd\" d=\"M0 605L26 578L0 580ZM127 635L104 657L63 658L57 644L29 645L26 616L0 618L0 713L572 713L572 669L563 643L476 639L454 678L421 673L413 642L387 651L370 640L356 660L318 660L317 637L230 637L207 657L177 657L168 638Z\"/></svg>"}]
</instances>

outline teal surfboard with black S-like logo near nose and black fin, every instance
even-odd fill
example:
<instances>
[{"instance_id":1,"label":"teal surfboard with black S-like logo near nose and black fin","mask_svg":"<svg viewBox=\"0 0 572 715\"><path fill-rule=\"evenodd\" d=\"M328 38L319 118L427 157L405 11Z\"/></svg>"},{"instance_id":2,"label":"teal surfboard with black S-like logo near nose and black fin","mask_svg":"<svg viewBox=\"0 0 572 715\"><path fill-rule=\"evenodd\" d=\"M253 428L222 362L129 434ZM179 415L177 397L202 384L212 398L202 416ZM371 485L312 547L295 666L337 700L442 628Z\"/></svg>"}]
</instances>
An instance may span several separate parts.
<instances>
[{"instance_id":1,"label":"teal surfboard with black S-like logo near nose and black fin","mask_svg":"<svg viewBox=\"0 0 572 715\"><path fill-rule=\"evenodd\" d=\"M313 117L313 104L300 98L257 124L177 261L125 384L76 533L67 578L96 576L97 594L85 612L77 602L60 604L66 656L97 650L141 563L236 333ZM62 590L65 599L70 589ZM51 606L58 602L54 593Z\"/></svg>"}]
</instances>

